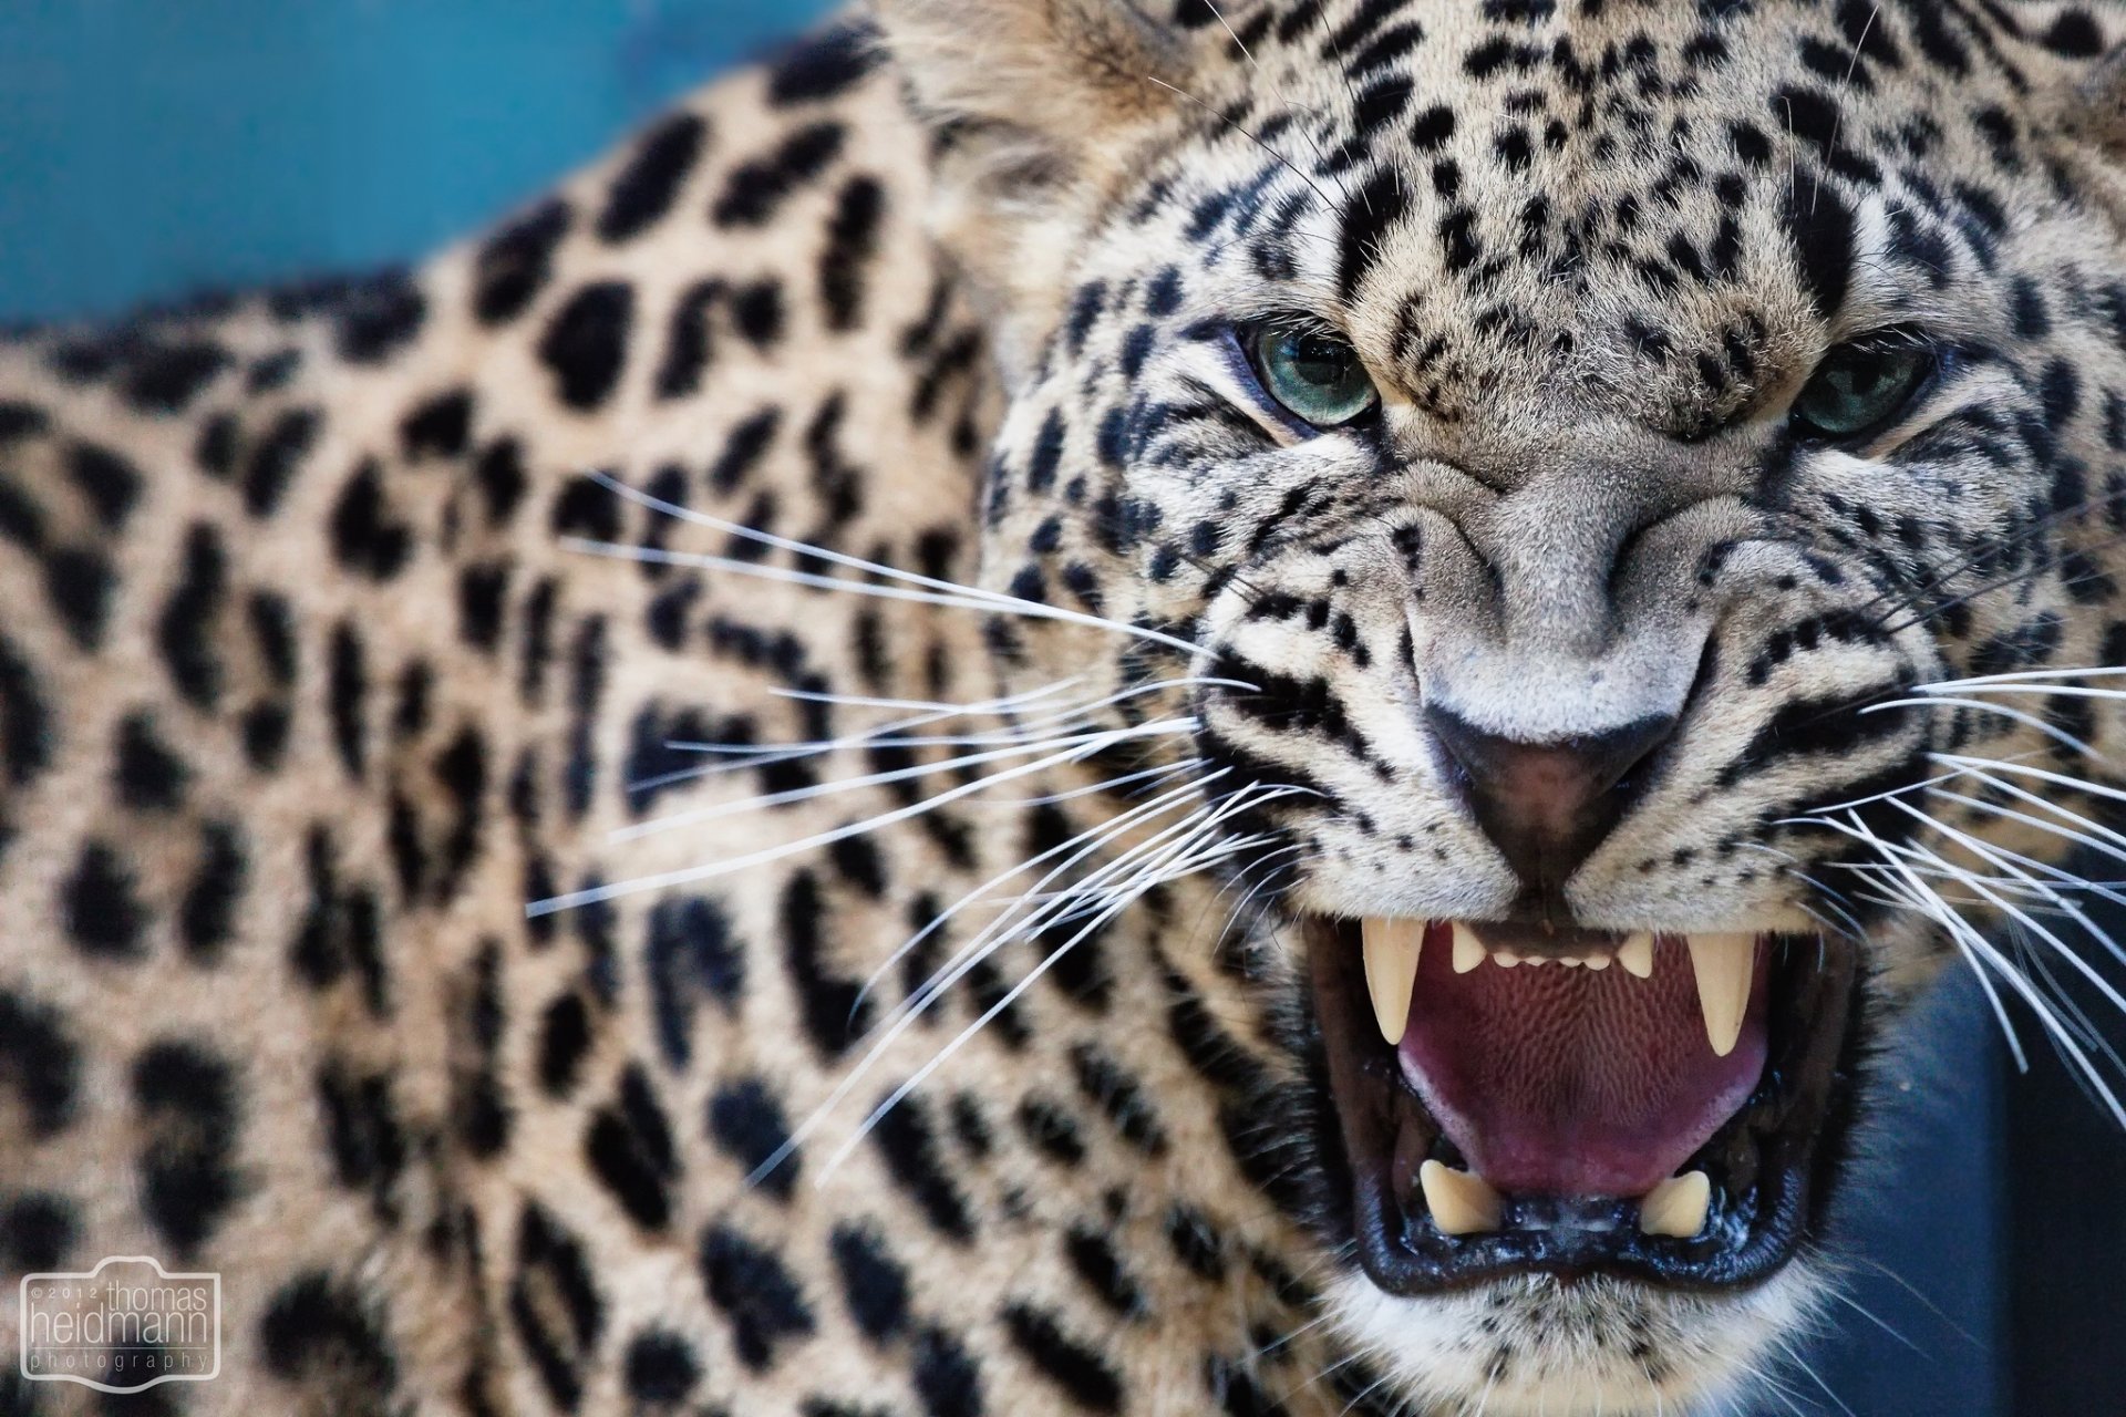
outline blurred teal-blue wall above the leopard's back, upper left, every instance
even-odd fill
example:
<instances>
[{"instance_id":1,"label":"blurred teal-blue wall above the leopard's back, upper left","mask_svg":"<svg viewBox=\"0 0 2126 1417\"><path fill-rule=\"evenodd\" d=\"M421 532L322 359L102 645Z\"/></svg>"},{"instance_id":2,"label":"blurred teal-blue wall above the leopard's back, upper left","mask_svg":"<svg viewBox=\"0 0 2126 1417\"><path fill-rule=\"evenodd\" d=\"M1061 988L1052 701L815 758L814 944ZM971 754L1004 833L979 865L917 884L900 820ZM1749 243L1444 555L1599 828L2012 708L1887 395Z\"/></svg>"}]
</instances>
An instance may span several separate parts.
<instances>
[{"instance_id":1,"label":"blurred teal-blue wall above the leopard's back, upper left","mask_svg":"<svg viewBox=\"0 0 2126 1417\"><path fill-rule=\"evenodd\" d=\"M419 255L821 0L0 0L0 321Z\"/></svg>"}]
</instances>

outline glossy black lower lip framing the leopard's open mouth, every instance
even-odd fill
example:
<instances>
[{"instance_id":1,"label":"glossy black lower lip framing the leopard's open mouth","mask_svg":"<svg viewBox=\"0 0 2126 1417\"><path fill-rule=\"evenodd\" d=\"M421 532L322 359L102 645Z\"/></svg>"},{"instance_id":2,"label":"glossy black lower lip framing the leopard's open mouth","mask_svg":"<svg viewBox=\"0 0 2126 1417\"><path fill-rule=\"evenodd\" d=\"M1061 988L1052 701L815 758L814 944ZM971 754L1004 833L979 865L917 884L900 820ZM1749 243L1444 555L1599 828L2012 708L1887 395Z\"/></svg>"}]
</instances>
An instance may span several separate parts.
<instances>
[{"instance_id":1,"label":"glossy black lower lip framing the leopard's open mouth","mask_svg":"<svg viewBox=\"0 0 2126 1417\"><path fill-rule=\"evenodd\" d=\"M1367 1277L1420 1296L1514 1275L1616 1275L1680 1290L1769 1279L1820 1228L1852 1126L1860 1054L1850 945L1816 937L1773 950L1771 1041L1750 1100L1692 1158L1714 1177L1703 1234L1646 1236L1635 1200L1509 1198L1492 1234L1441 1234L1416 1196L1424 1160L1463 1164L1403 1081L1365 992L1356 922L1305 924L1314 1007L1350 1185L1350 1236Z\"/></svg>"}]
</instances>

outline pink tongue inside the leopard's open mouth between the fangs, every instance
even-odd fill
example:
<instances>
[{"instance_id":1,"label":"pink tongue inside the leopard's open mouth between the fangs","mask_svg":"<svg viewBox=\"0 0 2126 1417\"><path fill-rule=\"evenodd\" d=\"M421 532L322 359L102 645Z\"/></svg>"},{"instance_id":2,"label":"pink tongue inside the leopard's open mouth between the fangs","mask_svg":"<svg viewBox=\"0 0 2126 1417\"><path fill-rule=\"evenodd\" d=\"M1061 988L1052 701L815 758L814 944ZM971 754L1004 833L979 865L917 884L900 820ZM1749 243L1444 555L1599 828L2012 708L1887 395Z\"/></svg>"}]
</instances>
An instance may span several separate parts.
<instances>
[{"instance_id":1,"label":"pink tongue inside the leopard's open mouth between the fangs","mask_svg":"<svg viewBox=\"0 0 2126 1417\"><path fill-rule=\"evenodd\" d=\"M1741 1041L1705 1039L1690 952L1654 943L1654 977L1484 960L1454 973L1427 931L1403 1075L1478 1175L1520 1196L1641 1196L1741 1109L1765 1071L1767 958Z\"/></svg>"}]
</instances>

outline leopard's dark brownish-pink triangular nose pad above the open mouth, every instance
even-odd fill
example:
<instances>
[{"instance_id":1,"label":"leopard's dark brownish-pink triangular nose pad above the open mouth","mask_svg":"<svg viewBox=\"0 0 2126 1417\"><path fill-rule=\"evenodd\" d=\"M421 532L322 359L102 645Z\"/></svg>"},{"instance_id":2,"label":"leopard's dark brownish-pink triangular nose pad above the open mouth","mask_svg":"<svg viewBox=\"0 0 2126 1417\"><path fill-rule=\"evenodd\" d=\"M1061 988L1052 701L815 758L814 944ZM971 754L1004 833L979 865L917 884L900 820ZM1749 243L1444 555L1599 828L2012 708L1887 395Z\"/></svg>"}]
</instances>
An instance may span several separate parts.
<instances>
[{"instance_id":1,"label":"leopard's dark brownish-pink triangular nose pad above the open mouth","mask_svg":"<svg viewBox=\"0 0 2126 1417\"><path fill-rule=\"evenodd\" d=\"M1424 720L1478 826L1546 903L1624 820L1639 786L1633 769L1675 733L1673 716L1656 716L1531 744L1486 733L1441 705L1427 705Z\"/></svg>"}]
</instances>

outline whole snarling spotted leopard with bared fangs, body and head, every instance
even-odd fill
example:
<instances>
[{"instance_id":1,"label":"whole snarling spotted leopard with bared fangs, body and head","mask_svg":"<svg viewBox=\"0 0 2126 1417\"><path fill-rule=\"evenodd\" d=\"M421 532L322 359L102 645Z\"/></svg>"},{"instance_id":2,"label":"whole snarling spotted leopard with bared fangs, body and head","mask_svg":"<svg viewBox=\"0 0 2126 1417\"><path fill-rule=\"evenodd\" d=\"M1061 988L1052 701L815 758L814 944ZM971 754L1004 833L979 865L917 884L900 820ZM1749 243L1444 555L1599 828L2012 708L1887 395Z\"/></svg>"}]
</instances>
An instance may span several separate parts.
<instances>
[{"instance_id":1,"label":"whole snarling spotted leopard with bared fangs, body and head","mask_svg":"<svg viewBox=\"0 0 2126 1417\"><path fill-rule=\"evenodd\" d=\"M1756 1411L1945 960L2115 1107L2122 38L880 0L17 331L9 1347L153 1256L155 1411Z\"/></svg>"}]
</instances>

